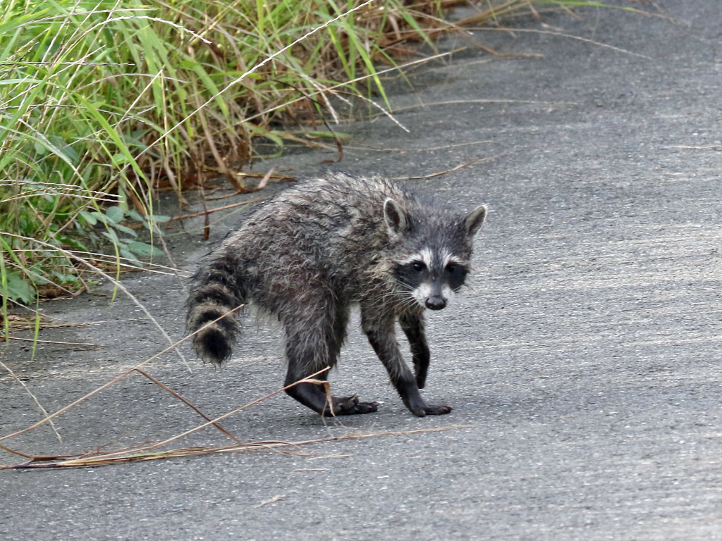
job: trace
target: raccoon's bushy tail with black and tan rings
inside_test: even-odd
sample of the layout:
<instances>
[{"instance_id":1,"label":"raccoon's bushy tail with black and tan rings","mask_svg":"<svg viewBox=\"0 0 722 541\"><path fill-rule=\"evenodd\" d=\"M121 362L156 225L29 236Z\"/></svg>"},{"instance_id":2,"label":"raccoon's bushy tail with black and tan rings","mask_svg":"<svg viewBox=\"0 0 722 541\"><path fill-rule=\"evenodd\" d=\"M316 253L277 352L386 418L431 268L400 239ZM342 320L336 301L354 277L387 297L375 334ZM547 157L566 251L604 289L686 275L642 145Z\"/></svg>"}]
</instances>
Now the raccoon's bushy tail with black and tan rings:
<instances>
[{"instance_id":1,"label":"raccoon's bushy tail with black and tan rings","mask_svg":"<svg viewBox=\"0 0 722 541\"><path fill-rule=\"evenodd\" d=\"M238 264L229 255L221 255L208 267L201 268L193 282L188 297L186 334L198 331L193 335L196 353L203 361L221 366L230 358L231 344L240 333L238 314L230 313L245 302ZM212 323L202 328L209 322Z\"/></svg>"}]
</instances>

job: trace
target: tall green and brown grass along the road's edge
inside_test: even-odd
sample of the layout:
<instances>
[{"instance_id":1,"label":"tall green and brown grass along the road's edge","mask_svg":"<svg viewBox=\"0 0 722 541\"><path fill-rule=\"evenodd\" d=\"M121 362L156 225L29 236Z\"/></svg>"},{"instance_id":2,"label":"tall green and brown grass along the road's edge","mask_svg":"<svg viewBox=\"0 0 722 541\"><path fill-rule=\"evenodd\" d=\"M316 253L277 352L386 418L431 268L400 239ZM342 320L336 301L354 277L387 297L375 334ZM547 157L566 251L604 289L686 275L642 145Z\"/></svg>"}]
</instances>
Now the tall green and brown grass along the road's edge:
<instances>
[{"instance_id":1,"label":"tall green and brown grass along the road's edge","mask_svg":"<svg viewBox=\"0 0 722 541\"><path fill-rule=\"evenodd\" d=\"M539 1L549 4L549 1ZM556 1L575 6L577 1ZM454 0L6 0L0 6L0 296L77 291L160 253L158 190L235 175L259 138L386 102L376 74ZM588 4L588 3L587 3ZM593 2L592 4L597 4ZM526 0L490 1L487 20ZM481 17L479 20L483 19ZM340 84L340 86L339 86ZM333 89L332 89L333 88ZM307 97L313 97L310 102ZM144 233L139 235L139 232Z\"/></svg>"}]
</instances>

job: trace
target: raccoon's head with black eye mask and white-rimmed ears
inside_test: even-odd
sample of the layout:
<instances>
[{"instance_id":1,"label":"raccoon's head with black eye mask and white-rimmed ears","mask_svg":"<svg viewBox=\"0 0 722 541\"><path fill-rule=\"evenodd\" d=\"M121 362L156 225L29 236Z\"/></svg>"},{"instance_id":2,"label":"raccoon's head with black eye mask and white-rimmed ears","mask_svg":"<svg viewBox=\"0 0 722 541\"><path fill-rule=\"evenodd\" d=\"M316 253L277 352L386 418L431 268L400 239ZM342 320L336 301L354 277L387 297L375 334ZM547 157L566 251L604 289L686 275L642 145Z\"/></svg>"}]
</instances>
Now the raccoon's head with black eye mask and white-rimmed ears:
<instances>
[{"instance_id":1,"label":"raccoon's head with black eye mask and white-rimmed ears","mask_svg":"<svg viewBox=\"0 0 722 541\"><path fill-rule=\"evenodd\" d=\"M404 291L420 306L446 307L464 285L470 271L471 242L484 223L487 208L469 214L448 211L409 211L388 198L383 218L388 233L400 240L403 255L393 260L393 273Z\"/></svg>"}]
</instances>

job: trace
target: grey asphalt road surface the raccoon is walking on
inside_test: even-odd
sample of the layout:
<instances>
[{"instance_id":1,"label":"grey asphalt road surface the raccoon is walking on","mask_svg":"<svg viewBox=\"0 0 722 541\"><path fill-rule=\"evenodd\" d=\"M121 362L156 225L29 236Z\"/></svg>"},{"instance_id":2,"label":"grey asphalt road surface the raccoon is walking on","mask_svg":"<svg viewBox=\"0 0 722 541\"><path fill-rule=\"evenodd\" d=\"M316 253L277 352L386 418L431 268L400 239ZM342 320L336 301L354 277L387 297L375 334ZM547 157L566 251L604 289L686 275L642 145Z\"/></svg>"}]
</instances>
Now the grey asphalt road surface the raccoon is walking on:
<instances>
[{"instance_id":1,"label":"grey asphalt road surface the raccoon is walking on","mask_svg":"<svg viewBox=\"0 0 722 541\"><path fill-rule=\"evenodd\" d=\"M378 413L324 423L278 395L224 426L244 441L448 430L295 454L4 471L0 539L722 539L722 6L656 3L668 17L586 9L516 19L513 33L476 32L502 53L543 56L455 53L414 69L412 91L389 82L409 133L385 117L340 128L352 139L334 167L352 172L422 176L486 159L409 181L439 201L490 207L474 289L429 318L424 394L454 410L413 417L356 325L331 382L336 394L378 400ZM313 173L333 157L304 151L256 169ZM213 237L236 218L214 223ZM199 223L186 226L168 242L192 271L207 245ZM175 278L123 283L178 337L184 295ZM0 360L48 410L166 345L126 299L86 294L43 309L58 321L105 322L43 330L44 340L97 347L46 343L32 363L25 344L3 346ZM249 325L220 371L187 349L192 373L170 354L146 368L222 415L280 387L278 335ZM38 418L0 375L0 434ZM63 444L46 426L1 443L78 452L198 423L133 376L58 418ZM206 430L175 443L226 441Z\"/></svg>"}]
</instances>

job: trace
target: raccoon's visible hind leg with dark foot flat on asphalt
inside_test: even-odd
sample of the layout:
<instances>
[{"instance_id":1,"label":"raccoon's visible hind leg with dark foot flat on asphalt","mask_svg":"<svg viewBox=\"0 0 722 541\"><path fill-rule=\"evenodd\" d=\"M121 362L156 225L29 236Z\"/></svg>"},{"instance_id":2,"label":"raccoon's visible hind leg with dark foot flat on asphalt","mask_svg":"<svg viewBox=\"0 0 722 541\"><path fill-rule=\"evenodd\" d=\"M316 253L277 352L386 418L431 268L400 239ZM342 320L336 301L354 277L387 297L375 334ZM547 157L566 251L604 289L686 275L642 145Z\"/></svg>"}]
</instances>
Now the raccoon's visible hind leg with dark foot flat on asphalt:
<instances>
[{"instance_id":1,"label":"raccoon's visible hind leg with dark foot flat on asphalt","mask_svg":"<svg viewBox=\"0 0 722 541\"><path fill-rule=\"evenodd\" d=\"M288 358L286 385L336 364L346 337L348 308L344 305L334 306L330 317L328 307L321 305L316 308L306 307L303 318L285 322ZM326 381L328 374L328 371L323 372L316 376L316 379ZM355 396L331 396L329 403L323 387L313 383L300 383L290 387L286 392L321 415L355 415L371 413L378 409L378 403L359 402Z\"/></svg>"}]
</instances>

